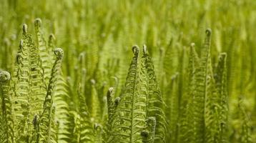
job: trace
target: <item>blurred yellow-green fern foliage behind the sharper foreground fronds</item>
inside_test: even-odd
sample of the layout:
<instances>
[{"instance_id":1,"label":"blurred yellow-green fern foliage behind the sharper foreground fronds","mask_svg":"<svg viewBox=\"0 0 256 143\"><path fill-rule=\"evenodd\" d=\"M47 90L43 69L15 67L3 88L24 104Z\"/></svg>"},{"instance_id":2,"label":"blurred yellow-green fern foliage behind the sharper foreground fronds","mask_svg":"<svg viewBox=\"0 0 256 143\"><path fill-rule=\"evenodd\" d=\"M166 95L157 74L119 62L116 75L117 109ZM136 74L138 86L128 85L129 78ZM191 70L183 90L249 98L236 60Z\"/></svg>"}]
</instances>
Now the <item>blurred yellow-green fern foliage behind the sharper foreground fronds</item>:
<instances>
[{"instance_id":1,"label":"blurred yellow-green fern foliage behind the sharper foreground fronds","mask_svg":"<svg viewBox=\"0 0 256 143\"><path fill-rule=\"evenodd\" d=\"M12 70L22 24L28 24L28 31L34 34L32 25L38 17L46 41L54 34L56 45L64 49L62 71L72 81L71 87L76 86L82 65L86 69L85 96L90 99L96 91L99 104L108 87L116 87L116 96L122 91L134 44L147 45L164 95L174 91L170 84L177 73L179 86L173 88L182 94L189 45L195 42L200 52L205 29L211 28L213 67L218 54L227 52L231 128L240 127L237 106L243 99L255 136L256 1L1 0L1 69ZM236 139L238 133L230 134Z\"/></svg>"}]
</instances>

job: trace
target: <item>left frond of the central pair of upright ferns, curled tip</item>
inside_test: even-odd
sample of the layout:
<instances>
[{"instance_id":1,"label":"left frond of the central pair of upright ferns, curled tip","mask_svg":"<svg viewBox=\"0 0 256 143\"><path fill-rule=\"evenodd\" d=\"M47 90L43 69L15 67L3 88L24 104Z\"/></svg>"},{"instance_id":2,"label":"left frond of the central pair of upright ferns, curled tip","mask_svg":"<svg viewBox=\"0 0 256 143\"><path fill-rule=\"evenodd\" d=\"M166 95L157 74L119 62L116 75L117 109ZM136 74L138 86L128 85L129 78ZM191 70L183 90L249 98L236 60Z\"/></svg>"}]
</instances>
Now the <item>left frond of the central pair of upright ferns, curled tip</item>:
<instances>
[{"instance_id":1,"label":"left frond of the central pair of upright ferns, curled tip","mask_svg":"<svg viewBox=\"0 0 256 143\"><path fill-rule=\"evenodd\" d=\"M134 57L129 67L127 82L114 115L112 137L108 142L142 142L141 132L146 127L146 94L139 77L139 47L133 46ZM144 89L145 90L145 89Z\"/></svg>"}]
</instances>

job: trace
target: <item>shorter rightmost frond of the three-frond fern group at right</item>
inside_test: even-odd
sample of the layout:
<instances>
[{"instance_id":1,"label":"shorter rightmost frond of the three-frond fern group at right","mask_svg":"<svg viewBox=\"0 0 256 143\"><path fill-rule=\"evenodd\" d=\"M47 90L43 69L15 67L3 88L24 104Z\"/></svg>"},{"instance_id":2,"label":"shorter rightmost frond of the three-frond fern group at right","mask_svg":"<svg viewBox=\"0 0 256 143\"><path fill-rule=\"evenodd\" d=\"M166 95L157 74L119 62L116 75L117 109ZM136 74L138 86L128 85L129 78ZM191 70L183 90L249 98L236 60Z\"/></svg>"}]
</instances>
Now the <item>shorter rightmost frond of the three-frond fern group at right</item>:
<instances>
[{"instance_id":1,"label":"shorter rightmost frond of the three-frond fern group at right","mask_svg":"<svg viewBox=\"0 0 256 143\"><path fill-rule=\"evenodd\" d=\"M215 74L215 87L207 97L205 114L206 142L227 142L226 54L220 54Z\"/></svg>"}]
</instances>

